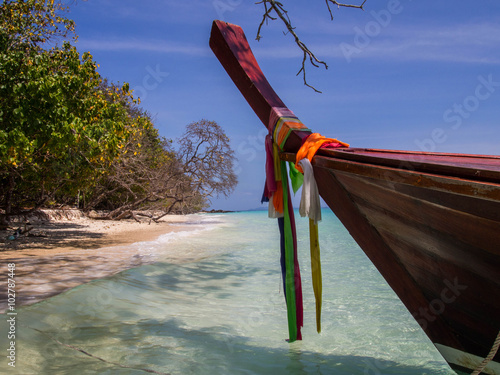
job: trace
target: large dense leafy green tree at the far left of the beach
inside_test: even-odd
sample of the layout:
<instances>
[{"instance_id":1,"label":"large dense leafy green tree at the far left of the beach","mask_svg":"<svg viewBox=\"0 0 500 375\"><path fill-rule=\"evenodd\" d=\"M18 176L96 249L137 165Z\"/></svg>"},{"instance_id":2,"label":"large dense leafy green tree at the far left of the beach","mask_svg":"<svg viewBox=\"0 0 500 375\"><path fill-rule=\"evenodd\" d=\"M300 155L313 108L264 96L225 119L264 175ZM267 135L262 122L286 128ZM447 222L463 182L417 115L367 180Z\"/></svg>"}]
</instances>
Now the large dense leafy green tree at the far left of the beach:
<instances>
[{"instance_id":1,"label":"large dense leafy green tree at the far left of the beach","mask_svg":"<svg viewBox=\"0 0 500 375\"><path fill-rule=\"evenodd\" d=\"M46 3L46 4L45 4ZM43 6L42 6L43 5ZM53 1L7 1L0 45L0 221L73 194L102 171L126 139L122 97L100 89L90 53L64 43L72 22ZM84 180L85 178L85 180Z\"/></svg>"}]
</instances>

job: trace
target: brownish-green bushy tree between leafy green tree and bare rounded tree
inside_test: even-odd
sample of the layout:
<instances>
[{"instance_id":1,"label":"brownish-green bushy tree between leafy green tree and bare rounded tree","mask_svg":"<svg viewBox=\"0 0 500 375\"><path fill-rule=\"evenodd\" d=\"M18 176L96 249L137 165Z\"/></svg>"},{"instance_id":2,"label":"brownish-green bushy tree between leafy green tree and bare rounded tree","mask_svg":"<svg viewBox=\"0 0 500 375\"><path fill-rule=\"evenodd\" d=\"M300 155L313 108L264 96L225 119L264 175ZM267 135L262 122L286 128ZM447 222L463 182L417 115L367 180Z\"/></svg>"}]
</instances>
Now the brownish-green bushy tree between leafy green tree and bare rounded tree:
<instances>
[{"instance_id":1,"label":"brownish-green bushy tree between leafy green tree and bare rounded tree","mask_svg":"<svg viewBox=\"0 0 500 375\"><path fill-rule=\"evenodd\" d=\"M127 105L127 111L127 139L120 144L117 158L85 193L83 208L107 210L106 219L128 218L132 210L152 206L170 212L167 201L175 198L172 180L182 175L172 142L159 136L149 114L135 105Z\"/></svg>"}]
</instances>

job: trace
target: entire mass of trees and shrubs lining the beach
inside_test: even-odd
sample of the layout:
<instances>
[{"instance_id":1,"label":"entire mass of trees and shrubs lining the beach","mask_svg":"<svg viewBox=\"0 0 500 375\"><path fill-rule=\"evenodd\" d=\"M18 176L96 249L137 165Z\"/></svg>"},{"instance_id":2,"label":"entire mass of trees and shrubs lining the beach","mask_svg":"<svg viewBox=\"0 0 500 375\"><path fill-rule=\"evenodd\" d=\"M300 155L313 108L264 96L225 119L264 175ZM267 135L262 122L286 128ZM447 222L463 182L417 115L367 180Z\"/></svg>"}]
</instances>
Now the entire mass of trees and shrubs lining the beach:
<instances>
[{"instance_id":1,"label":"entire mass of trees and shrubs lining the beach","mask_svg":"<svg viewBox=\"0 0 500 375\"><path fill-rule=\"evenodd\" d=\"M169 212L232 191L234 155L216 123L188 125L175 151L129 85L103 80L90 53L68 42L47 49L74 28L60 2L1 4L0 219L48 202L106 208L113 217Z\"/></svg>"}]
</instances>

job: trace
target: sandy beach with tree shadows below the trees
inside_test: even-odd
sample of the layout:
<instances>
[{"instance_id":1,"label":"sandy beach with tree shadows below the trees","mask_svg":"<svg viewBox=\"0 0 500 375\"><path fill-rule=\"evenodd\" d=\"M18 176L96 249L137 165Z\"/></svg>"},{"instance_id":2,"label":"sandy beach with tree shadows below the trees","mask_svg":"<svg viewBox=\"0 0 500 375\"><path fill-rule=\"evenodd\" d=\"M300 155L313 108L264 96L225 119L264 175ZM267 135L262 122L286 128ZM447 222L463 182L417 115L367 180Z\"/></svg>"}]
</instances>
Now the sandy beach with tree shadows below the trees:
<instances>
[{"instance_id":1,"label":"sandy beach with tree shadows below the trees","mask_svg":"<svg viewBox=\"0 0 500 375\"><path fill-rule=\"evenodd\" d=\"M168 215L160 222L96 220L64 215L32 223L29 233L9 240L0 231L0 313L8 307L8 265L15 264L15 306L32 304L94 279L153 261L127 248L136 242L194 229L192 216ZM183 225L186 224L186 225Z\"/></svg>"}]
</instances>

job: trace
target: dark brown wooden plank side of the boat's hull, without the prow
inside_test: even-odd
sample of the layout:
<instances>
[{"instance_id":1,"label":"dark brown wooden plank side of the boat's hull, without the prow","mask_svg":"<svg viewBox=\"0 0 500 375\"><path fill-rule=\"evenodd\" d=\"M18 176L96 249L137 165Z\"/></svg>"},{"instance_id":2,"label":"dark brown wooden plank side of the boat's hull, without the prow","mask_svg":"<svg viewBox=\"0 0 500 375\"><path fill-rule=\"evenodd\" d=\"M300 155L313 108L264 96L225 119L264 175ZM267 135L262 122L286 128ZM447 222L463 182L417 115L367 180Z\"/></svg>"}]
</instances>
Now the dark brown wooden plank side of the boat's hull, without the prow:
<instances>
[{"instance_id":1,"label":"dark brown wooden plank side of the boat's hull, without the prow","mask_svg":"<svg viewBox=\"0 0 500 375\"><path fill-rule=\"evenodd\" d=\"M500 185L328 155L313 166L320 195L445 359L477 368L500 327ZM500 374L499 360L484 373Z\"/></svg>"}]
</instances>

